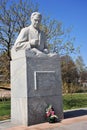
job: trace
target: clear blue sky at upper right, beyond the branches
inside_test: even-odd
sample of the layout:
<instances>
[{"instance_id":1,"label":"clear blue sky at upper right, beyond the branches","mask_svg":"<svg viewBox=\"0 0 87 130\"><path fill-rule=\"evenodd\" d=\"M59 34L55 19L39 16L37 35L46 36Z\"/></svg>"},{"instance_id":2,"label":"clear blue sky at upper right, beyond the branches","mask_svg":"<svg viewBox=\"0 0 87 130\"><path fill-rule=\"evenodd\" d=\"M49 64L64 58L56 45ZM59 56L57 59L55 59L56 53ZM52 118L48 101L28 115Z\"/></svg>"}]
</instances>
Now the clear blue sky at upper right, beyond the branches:
<instances>
[{"instance_id":1,"label":"clear blue sky at upper right, beyond the branches","mask_svg":"<svg viewBox=\"0 0 87 130\"><path fill-rule=\"evenodd\" d=\"M39 12L57 19L65 28L73 26L74 45L81 46L80 55L87 66L87 0L34 0Z\"/></svg>"}]
</instances>

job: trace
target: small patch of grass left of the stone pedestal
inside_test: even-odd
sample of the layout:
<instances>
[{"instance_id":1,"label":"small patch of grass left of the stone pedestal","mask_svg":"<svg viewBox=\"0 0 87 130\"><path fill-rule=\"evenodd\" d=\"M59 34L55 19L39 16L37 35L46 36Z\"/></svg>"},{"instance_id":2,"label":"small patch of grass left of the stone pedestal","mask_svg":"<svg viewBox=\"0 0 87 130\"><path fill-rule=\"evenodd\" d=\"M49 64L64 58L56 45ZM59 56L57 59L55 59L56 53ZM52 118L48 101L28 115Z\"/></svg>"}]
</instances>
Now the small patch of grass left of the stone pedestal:
<instances>
[{"instance_id":1,"label":"small patch of grass left of the stone pedestal","mask_svg":"<svg viewBox=\"0 0 87 130\"><path fill-rule=\"evenodd\" d=\"M0 121L10 118L10 100L0 101Z\"/></svg>"}]
</instances>

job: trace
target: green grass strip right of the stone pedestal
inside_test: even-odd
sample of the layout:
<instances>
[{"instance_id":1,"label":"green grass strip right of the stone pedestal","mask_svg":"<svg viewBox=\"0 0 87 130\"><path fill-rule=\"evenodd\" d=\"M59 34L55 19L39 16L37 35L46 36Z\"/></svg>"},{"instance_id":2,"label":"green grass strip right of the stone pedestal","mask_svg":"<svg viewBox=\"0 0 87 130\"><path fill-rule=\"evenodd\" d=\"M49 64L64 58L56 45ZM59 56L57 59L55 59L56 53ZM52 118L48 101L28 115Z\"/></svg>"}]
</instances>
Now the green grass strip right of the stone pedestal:
<instances>
[{"instance_id":1,"label":"green grass strip right of the stone pedestal","mask_svg":"<svg viewBox=\"0 0 87 130\"><path fill-rule=\"evenodd\" d=\"M77 109L87 107L87 93L63 95L63 109Z\"/></svg>"}]
</instances>

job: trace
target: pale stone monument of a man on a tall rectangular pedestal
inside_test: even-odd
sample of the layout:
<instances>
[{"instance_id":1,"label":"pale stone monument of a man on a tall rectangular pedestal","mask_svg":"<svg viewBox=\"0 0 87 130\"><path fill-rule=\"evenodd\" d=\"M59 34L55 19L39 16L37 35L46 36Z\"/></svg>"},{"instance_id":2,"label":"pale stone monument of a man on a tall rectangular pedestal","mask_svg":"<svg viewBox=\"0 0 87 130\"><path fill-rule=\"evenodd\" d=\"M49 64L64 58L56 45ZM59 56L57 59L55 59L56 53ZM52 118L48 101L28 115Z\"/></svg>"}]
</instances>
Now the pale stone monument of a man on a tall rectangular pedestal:
<instances>
[{"instance_id":1,"label":"pale stone monument of a man on a tall rectangular pedestal","mask_svg":"<svg viewBox=\"0 0 87 130\"><path fill-rule=\"evenodd\" d=\"M11 50L11 121L19 125L45 122L49 104L63 118L60 59L48 51L41 19L32 13L31 25L21 30Z\"/></svg>"}]
</instances>

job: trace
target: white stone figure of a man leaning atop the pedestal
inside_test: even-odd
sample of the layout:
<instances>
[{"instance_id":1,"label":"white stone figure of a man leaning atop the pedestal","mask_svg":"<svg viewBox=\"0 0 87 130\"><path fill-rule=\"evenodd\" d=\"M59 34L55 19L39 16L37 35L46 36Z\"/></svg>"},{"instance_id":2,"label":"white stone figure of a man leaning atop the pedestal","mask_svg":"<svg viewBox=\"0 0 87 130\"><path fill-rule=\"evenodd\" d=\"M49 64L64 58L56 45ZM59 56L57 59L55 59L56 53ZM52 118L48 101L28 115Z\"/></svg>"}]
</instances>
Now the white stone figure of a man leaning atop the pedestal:
<instances>
[{"instance_id":1,"label":"white stone figure of a man leaning atop the pedestal","mask_svg":"<svg viewBox=\"0 0 87 130\"><path fill-rule=\"evenodd\" d=\"M31 15L31 25L21 30L13 48L15 51L30 50L34 55L48 54L45 34L40 30L42 15L34 12Z\"/></svg>"}]
</instances>

